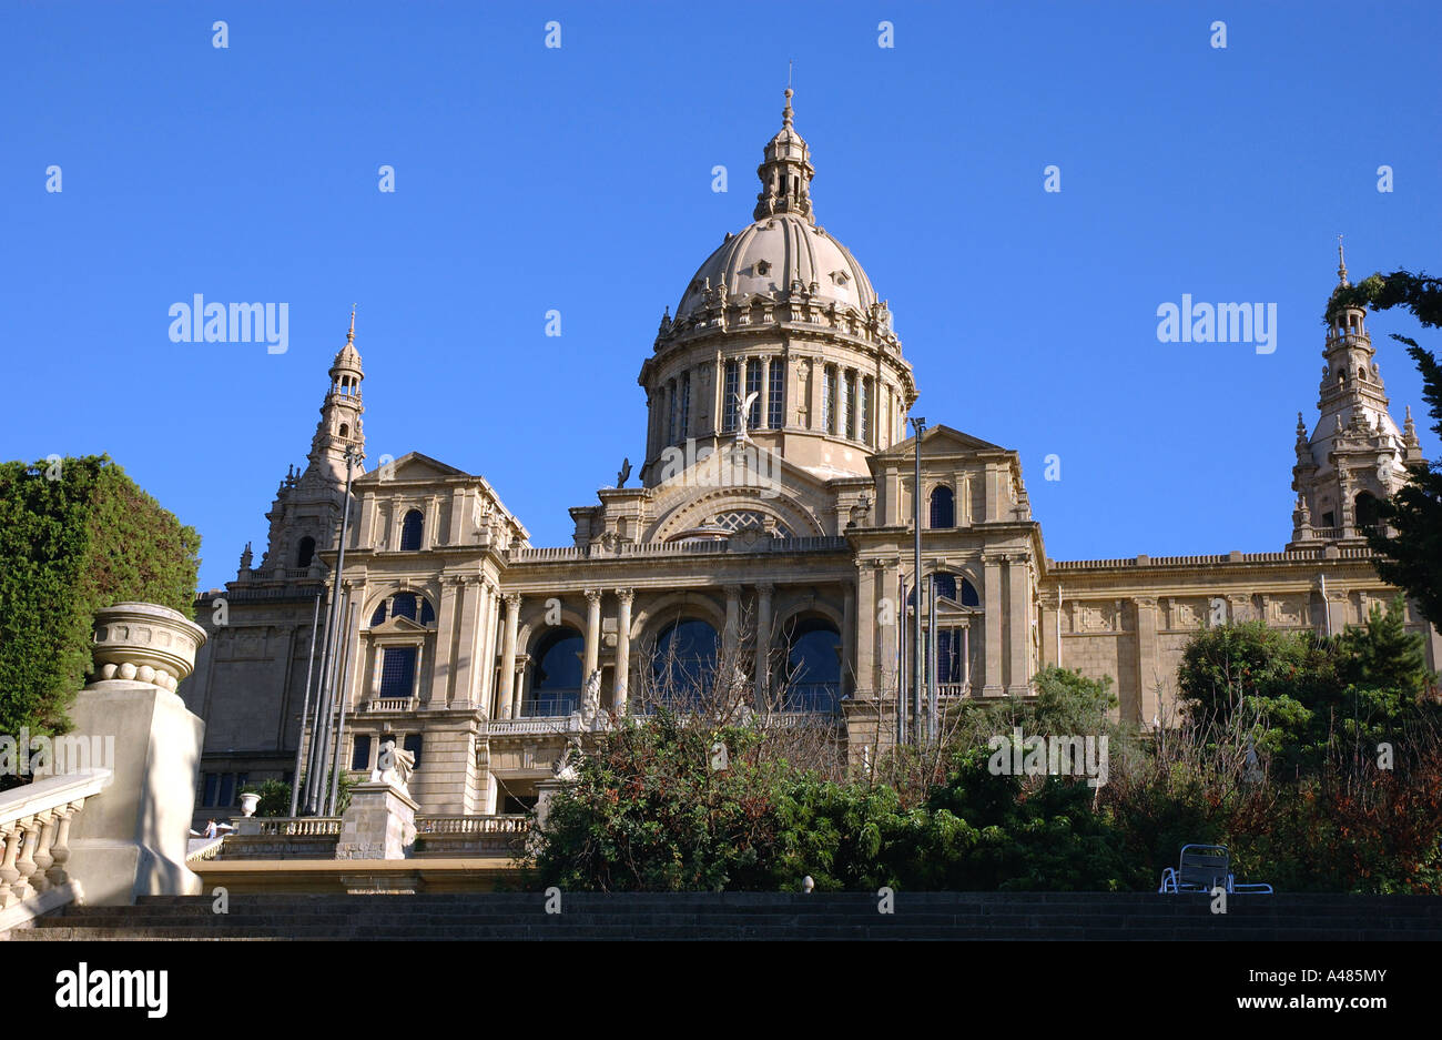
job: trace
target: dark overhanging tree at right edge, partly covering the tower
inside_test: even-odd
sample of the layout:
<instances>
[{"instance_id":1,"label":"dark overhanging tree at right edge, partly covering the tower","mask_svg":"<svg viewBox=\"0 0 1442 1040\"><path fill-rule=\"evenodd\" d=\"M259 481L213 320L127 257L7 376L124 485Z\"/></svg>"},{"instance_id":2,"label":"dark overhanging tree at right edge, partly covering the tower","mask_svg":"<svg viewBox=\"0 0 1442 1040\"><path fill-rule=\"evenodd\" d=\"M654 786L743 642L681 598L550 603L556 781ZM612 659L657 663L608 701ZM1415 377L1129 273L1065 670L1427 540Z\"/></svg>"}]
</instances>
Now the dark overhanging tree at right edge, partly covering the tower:
<instances>
[{"instance_id":1,"label":"dark overhanging tree at right edge, partly covering the tower","mask_svg":"<svg viewBox=\"0 0 1442 1040\"><path fill-rule=\"evenodd\" d=\"M1409 310L1429 329L1442 326L1442 278L1393 271L1373 274L1355 286L1338 286L1327 304L1325 320L1343 307ZM1416 340L1393 333L1422 372L1422 397L1432 415L1433 433L1442 437L1442 363ZM1422 614L1442 626L1442 463L1422 460L1407 466L1412 480L1384 502L1377 516L1396 534L1370 532L1367 541L1380 554L1377 573L1417 601Z\"/></svg>"}]
</instances>

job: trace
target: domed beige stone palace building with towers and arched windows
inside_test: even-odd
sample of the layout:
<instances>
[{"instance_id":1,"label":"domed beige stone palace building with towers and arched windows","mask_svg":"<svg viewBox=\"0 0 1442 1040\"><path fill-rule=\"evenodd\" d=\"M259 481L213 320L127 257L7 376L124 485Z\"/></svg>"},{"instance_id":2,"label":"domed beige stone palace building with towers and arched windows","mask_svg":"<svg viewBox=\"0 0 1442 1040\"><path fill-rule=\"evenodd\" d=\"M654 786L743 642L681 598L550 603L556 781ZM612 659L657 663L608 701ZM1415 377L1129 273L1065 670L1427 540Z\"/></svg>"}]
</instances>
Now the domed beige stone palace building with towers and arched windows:
<instances>
[{"instance_id":1,"label":"domed beige stone palace building with towers and arched windows","mask_svg":"<svg viewBox=\"0 0 1442 1040\"><path fill-rule=\"evenodd\" d=\"M435 815L521 811L570 739L696 685L744 689L859 760L895 740L917 495L943 701L1027 695L1060 664L1112 677L1123 718L1165 726L1203 625L1340 632L1394 596L1363 529L1420 447L1410 414L1402 431L1389 414L1360 310L1325 336L1309 434L1298 417L1283 551L1050 560L1017 453L940 424L921 436L919 488L914 374L887 301L816 224L790 97L751 224L701 264L642 363L639 486L622 473L572 508L571 545L532 547L485 477L412 453L355 470L329 601L346 456L365 450L352 316L260 565L247 547L236 580L198 597L209 642L182 694L206 720L199 818L247 780L291 775L327 659L342 760L369 770L397 739ZM1436 668L1438 632L1412 606L1409 625Z\"/></svg>"}]
</instances>

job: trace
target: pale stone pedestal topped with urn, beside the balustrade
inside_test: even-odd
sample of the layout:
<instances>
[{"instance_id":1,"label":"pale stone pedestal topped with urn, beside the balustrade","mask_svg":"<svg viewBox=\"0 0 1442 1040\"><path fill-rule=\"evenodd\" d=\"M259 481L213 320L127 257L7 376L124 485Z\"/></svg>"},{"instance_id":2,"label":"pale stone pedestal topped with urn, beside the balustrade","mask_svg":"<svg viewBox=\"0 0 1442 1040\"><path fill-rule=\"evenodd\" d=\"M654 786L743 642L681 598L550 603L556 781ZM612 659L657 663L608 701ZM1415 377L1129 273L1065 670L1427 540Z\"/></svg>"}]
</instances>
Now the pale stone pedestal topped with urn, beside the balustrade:
<instances>
[{"instance_id":1,"label":"pale stone pedestal topped with urn, beside the balustrade","mask_svg":"<svg viewBox=\"0 0 1442 1040\"><path fill-rule=\"evenodd\" d=\"M95 677L75 698L75 734L114 737L115 782L85 803L69 832L66 873L85 902L202 890L185 863L205 723L176 687L195 668L205 629L154 603L95 614ZM9 854L6 857L9 860Z\"/></svg>"}]
</instances>

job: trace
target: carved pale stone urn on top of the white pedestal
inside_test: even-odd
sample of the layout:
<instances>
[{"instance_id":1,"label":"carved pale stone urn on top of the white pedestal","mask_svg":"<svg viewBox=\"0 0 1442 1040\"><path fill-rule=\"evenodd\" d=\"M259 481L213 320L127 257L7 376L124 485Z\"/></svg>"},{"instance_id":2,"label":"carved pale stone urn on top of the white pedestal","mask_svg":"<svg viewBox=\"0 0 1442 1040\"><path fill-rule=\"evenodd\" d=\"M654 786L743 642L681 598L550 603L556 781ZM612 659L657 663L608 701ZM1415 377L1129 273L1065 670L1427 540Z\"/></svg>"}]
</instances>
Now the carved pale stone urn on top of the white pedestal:
<instances>
[{"instance_id":1,"label":"carved pale stone urn on top of the white pedestal","mask_svg":"<svg viewBox=\"0 0 1442 1040\"><path fill-rule=\"evenodd\" d=\"M157 603L117 603L95 612L91 653L97 682L146 682L172 694L195 671L205 629Z\"/></svg>"}]
</instances>

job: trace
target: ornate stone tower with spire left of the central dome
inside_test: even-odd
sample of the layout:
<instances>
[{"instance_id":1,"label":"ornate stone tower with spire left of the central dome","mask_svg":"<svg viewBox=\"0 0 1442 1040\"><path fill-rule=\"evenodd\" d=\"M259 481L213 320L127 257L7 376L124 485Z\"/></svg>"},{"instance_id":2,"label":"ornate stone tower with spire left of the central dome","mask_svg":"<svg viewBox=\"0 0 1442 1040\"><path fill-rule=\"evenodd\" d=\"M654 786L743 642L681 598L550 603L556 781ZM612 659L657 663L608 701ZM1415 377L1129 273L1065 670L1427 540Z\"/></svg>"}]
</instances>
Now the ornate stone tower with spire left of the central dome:
<instances>
[{"instance_id":1,"label":"ornate stone tower with spire left of the central dome","mask_svg":"<svg viewBox=\"0 0 1442 1040\"><path fill-rule=\"evenodd\" d=\"M286 583L322 574L317 550L329 550L340 534L340 511L346 488L346 451L365 459L360 414L360 382L365 371L356 351L356 316L350 312L346 343L330 365L330 387L320 405L320 421L310 440L306 469L287 472L265 518L270 537L261 565L249 571L242 558L239 576L258 583ZM352 476L360 476L356 466ZM248 574L249 571L249 574Z\"/></svg>"}]
</instances>

